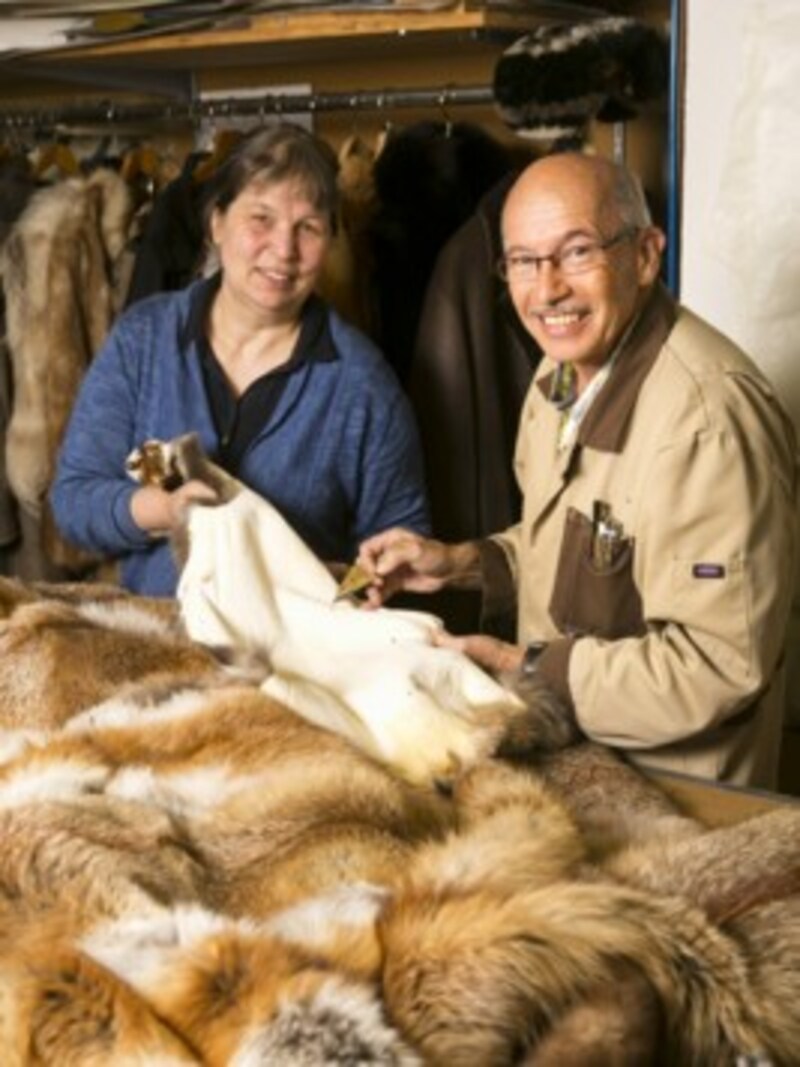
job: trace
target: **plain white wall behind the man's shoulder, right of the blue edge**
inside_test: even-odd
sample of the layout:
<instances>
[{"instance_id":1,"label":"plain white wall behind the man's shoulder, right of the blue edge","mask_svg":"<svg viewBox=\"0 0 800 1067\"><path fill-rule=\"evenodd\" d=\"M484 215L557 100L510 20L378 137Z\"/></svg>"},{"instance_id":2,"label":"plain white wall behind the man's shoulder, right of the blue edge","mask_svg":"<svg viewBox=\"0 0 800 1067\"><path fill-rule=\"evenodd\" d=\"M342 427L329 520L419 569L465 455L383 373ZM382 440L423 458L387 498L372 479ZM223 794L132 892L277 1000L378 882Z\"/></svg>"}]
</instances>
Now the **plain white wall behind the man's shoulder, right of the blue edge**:
<instances>
[{"instance_id":1,"label":"plain white wall behind the man's shoulder, right of the blue edge","mask_svg":"<svg viewBox=\"0 0 800 1067\"><path fill-rule=\"evenodd\" d=\"M800 0L687 0L686 43L681 299L762 367L800 439ZM789 642L800 723L800 580Z\"/></svg>"}]
</instances>

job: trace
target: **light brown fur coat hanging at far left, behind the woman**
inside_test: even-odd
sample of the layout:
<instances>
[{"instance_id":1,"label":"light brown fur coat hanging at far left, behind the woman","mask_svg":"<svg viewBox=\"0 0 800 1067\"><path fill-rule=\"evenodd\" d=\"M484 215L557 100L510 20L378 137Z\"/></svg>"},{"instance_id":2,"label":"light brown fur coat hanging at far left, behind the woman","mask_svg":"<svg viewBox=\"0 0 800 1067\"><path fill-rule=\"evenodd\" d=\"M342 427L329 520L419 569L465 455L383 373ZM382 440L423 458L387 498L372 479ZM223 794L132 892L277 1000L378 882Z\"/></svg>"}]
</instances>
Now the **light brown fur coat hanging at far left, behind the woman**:
<instances>
[{"instance_id":1,"label":"light brown fur coat hanging at far left, behind the woman","mask_svg":"<svg viewBox=\"0 0 800 1067\"><path fill-rule=\"evenodd\" d=\"M90 557L59 537L46 496L81 379L117 307L113 268L131 213L114 172L69 178L31 198L0 258L14 391L9 480L21 511L42 523L45 556L75 573Z\"/></svg>"}]
</instances>

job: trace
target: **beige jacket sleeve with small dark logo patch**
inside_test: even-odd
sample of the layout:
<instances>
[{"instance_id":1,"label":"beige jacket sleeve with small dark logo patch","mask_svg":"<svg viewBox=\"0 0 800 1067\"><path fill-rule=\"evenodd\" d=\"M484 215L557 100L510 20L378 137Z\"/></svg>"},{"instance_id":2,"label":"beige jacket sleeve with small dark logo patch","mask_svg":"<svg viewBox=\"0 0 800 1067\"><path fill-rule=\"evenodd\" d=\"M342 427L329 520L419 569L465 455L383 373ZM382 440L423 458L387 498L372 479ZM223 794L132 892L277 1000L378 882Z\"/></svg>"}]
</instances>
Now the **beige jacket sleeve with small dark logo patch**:
<instances>
[{"instance_id":1,"label":"beige jacket sleeve with small dark logo patch","mask_svg":"<svg viewBox=\"0 0 800 1067\"><path fill-rule=\"evenodd\" d=\"M641 501L635 578L646 633L580 637L569 665L578 721L629 749L747 713L784 652L797 551L797 459L769 391L726 375L705 429L662 446ZM621 695L624 694L624 699Z\"/></svg>"}]
</instances>

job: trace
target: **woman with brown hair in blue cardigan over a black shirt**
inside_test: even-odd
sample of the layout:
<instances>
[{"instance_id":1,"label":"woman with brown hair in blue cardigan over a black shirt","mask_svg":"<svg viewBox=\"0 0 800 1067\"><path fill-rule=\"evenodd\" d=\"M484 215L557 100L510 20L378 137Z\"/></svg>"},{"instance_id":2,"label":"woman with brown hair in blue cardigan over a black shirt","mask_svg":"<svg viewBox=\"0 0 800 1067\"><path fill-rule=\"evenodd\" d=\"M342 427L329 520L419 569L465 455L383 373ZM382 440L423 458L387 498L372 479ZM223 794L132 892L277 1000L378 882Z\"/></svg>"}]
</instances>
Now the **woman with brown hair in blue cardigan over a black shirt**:
<instances>
[{"instance_id":1,"label":"woman with brown hair in blue cardigan over a black shirt","mask_svg":"<svg viewBox=\"0 0 800 1067\"><path fill-rule=\"evenodd\" d=\"M174 593L165 535L209 493L134 485L125 460L148 437L197 431L329 561L351 559L389 526L427 529L404 395L374 346L314 291L336 208L324 143L289 125L251 134L208 201L219 271L134 304L92 364L51 504L66 538L121 557L134 592Z\"/></svg>"}]
</instances>

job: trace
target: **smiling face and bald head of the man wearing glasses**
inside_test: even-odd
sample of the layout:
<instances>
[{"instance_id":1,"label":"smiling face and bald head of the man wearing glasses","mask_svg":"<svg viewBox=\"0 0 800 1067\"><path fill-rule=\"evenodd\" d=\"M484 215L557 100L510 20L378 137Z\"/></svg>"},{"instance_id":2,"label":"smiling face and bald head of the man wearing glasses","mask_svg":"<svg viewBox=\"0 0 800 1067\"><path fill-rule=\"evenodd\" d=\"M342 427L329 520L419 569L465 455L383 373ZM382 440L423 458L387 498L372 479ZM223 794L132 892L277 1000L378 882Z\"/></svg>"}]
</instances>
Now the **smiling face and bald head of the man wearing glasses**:
<instances>
[{"instance_id":1,"label":"smiling face and bald head of the man wearing glasses","mask_svg":"<svg viewBox=\"0 0 800 1067\"><path fill-rule=\"evenodd\" d=\"M614 244L596 251L596 242L618 235ZM550 359L575 366L581 388L638 313L658 273L663 235L625 225L602 165L554 156L535 163L512 189L502 237L507 262L575 246L593 250L592 266L579 273L545 261L529 276L509 274L511 299L527 330Z\"/></svg>"}]
</instances>

